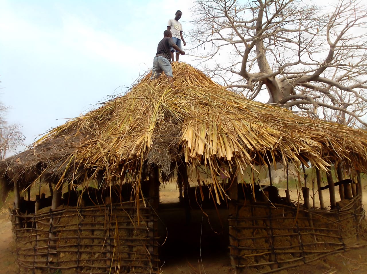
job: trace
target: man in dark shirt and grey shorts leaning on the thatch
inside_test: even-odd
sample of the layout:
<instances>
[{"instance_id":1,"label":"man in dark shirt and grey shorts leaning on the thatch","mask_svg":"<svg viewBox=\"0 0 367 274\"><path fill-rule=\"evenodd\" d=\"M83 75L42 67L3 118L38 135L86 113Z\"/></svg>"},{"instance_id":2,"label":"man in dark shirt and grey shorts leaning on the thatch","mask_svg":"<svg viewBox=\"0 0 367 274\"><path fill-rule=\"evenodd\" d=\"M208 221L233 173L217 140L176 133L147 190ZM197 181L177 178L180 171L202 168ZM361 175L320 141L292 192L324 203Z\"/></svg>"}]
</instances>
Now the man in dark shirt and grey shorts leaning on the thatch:
<instances>
[{"instance_id":1,"label":"man in dark shirt and grey shorts leaning on the thatch","mask_svg":"<svg viewBox=\"0 0 367 274\"><path fill-rule=\"evenodd\" d=\"M158 43L157 54L153 60L152 77L150 79L158 78L162 71L167 75L168 80L173 86L173 74L171 66L171 48L185 55L172 40L172 33L169 30L165 30L163 33L163 39Z\"/></svg>"}]
</instances>

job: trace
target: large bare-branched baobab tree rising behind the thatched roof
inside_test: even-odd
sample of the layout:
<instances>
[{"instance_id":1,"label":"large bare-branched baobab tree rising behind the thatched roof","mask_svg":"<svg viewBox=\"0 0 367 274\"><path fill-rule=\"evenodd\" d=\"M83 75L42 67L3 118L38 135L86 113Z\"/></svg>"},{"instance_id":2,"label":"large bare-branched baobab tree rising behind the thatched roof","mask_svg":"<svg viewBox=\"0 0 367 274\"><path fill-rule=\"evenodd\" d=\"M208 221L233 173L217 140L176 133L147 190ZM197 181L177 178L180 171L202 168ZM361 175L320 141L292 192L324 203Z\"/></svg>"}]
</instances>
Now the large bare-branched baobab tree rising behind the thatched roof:
<instances>
[{"instance_id":1,"label":"large bare-branched baobab tree rising behind the thatched roof","mask_svg":"<svg viewBox=\"0 0 367 274\"><path fill-rule=\"evenodd\" d=\"M309 3L196 0L194 49L212 57L210 76L251 100L267 92L269 104L366 125L366 4Z\"/></svg>"}]
</instances>

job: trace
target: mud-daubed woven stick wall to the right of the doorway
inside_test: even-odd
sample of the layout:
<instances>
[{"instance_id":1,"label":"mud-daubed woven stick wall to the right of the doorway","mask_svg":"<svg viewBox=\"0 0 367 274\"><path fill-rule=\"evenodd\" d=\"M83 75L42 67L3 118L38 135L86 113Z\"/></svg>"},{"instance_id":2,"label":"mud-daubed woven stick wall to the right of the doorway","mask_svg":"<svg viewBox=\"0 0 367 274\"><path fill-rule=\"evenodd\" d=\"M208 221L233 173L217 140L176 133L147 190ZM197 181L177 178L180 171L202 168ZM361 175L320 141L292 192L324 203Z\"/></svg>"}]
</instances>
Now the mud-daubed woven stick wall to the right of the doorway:
<instances>
[{"instance_id":1,"label":"mud-daubed woven stick wall to the right of the doorway","mask_svg":"<svg viewBox=\"0 0 367 274\"><path fill-rule=\"evenodd\" d=\"M352 247L364 210L359 197L344 201L331 211L239 201L236 215L229 217L237 273L273 273Z\"/></svg>"}]
</instances>

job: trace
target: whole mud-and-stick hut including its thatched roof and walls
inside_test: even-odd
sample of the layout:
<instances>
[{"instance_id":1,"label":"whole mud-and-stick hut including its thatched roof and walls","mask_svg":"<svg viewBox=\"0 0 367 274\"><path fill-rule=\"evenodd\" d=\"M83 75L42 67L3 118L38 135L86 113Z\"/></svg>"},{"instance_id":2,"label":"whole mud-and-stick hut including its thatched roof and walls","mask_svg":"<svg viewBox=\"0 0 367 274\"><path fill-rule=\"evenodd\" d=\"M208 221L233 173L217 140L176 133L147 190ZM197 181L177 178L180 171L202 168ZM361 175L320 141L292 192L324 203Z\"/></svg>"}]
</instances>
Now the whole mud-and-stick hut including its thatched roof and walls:
<instances>
[{"instance_id":1,"label":"whole mud-and-stick hut including its thatched roof and walls","mask_svg":"<svg viewBox=\"0 0 367 274\"><path fill-rule=\"evenodd\" d=\"M188 220L190 178L197 181L196 202L226 207L237 273L286 269L355 242L364 218L364 132L247 100L185 63L173 70L174 88L148 74L127 94L0 163L3 198L15 192L11 216L22 273L158 273L159 185L173 177ZM290 163L317 170L320 208L310 206L306 177L302 204L274 195L271 178L269 187L258 184L259 167ZM22 198L34 184L49 184L50 198Z\"/></svg>"}]
</instances>

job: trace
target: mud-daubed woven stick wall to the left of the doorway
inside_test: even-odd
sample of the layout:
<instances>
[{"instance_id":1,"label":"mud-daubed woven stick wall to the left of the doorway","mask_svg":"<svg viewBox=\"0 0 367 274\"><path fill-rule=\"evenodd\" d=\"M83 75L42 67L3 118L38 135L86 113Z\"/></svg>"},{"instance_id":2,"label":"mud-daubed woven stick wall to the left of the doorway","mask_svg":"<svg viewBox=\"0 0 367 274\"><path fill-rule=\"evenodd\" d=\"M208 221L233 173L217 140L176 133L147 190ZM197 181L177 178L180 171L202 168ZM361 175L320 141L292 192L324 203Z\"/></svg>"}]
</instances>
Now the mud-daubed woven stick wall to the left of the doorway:
<instances>
[{"instance_id":1,"label":"mud-daubed woven stick wall to the left of the doorway","mask_svg":"<svg viewBox=\"0 0 367 274\"><path fill-rule=\"evenodd\" d=\"M157 219L135 202L19 215L12 211L20 273L157 273ZM56 272L59 270L59 272Z\"/></svg>"}]
</instances>

